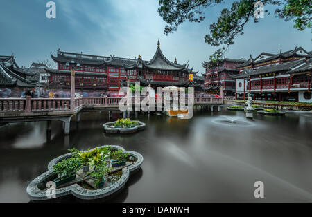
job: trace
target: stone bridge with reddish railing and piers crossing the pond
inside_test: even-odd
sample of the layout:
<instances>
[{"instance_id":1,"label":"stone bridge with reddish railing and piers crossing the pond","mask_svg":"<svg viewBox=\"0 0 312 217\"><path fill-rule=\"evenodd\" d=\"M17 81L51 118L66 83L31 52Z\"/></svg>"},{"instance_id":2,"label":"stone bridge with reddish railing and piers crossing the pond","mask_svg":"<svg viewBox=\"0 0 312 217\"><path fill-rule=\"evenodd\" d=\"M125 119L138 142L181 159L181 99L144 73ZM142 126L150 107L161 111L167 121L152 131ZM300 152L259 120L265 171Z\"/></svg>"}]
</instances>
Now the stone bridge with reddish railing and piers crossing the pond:
<instances>
[{"instance_id":1,"label":"stone bridge with reddish railing and piers crossing the pond","mask_svg":"<svg viewBox=\"0 0 312 217\"><path fill-rule=\"evenodd\" d=\"M132 99L133 104L140 104L141 100ZM70 98L0 98L0 123L35 122L61 120L64 122L64 133L69 134L71 117L87 111L119 111L119 102L123 97L76 97ZM185 99L187 102L187 99ZM164 97L157 97L155 105L164 105ZM223 98L194 97L194 105L220 105ZM49 126L48 126L49 129Z\"/></svg>"}]
</instances>

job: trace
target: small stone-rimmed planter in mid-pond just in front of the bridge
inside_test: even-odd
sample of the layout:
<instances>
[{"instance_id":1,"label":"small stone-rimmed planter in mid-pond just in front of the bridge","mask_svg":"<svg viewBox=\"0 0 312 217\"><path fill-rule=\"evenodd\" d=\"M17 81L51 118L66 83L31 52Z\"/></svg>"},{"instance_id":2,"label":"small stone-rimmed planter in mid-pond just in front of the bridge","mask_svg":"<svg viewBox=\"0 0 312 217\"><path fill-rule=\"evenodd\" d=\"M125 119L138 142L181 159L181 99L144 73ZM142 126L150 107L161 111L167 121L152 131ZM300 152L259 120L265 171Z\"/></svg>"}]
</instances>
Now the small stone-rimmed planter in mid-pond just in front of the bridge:
<instances>
[{"instance_id":1,"label":"small stone-rimmed planter in mid-pond just in front of the bridge","mask_svg":"<svg viewBox=\"0 0 312 217\"><path fill-rule=\"evenodd\" d=\"M146 124L140 121L131 121L130 119L119 119L116 122L108 122L103 124L105 133L135 133L137 131L143 131Z\"/></svg>"}]
</instances>

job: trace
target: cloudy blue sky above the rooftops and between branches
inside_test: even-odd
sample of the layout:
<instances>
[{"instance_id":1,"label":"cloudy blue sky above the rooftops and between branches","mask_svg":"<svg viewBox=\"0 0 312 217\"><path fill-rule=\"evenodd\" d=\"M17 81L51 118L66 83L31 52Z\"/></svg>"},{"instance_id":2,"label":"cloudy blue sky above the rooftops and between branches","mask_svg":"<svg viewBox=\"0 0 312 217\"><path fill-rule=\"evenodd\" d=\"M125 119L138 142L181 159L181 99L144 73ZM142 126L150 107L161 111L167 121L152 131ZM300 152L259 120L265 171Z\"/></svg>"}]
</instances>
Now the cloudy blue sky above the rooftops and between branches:
<instances>
[{"instance_id":1,"label":"cloudy blue sky above the rooftops and between branches","mask_svg":"<svg viewBox=\"0 0 312 217\"><path fill-rule=\"evenodd\" d=\"M19 66L51 60L58 48L62 51L90 55L153 58L157 40L167 59L179 64L189 61L195 71L204 73L202 62L208 61L216 47L205 44L209 24L229 3L205 11L201 23L183 23L173 34L164 35L166 23L159 16L157 0L55 0L56 18L46 18L48 0L1 0L0 55L14 53ZM293 28L293 22L271 15L259 23L245 26L245 34L235 40L225 57L257 57L261 52L279 53L302 46L312 50L311 30Z\"/></svg>"}]
</instances>

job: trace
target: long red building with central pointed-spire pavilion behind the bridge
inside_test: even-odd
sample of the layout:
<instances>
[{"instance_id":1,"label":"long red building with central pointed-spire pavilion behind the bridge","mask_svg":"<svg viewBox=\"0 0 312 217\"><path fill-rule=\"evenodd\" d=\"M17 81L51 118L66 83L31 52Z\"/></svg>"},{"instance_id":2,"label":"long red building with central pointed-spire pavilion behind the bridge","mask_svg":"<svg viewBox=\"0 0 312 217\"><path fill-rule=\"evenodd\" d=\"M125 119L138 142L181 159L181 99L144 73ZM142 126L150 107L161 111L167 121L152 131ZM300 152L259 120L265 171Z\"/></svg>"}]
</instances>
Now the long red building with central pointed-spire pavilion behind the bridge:
<instances>
[{"instance_id":1,"label":"long red building with central pointed-spire pavilion behind the bridge","mask_svg":"<svg viewBox=\"0 0 312 217\"><path fill-rule=\"evenodd\" d=\"M145 61L139 55L138 59L85 55L83 53L68 53L58 50L57 56L51 54L58 64L55 70L46 70L50 77L50 87L60 89L70 88L71 68L76 72L76 90L83 91L119 91L121 86L130 82L141 82L142 86L187 86L189 73L193 68L188 64L177 64L164 57L158 41L156 53L150 61Z\"/></svg>"}]
</instances>

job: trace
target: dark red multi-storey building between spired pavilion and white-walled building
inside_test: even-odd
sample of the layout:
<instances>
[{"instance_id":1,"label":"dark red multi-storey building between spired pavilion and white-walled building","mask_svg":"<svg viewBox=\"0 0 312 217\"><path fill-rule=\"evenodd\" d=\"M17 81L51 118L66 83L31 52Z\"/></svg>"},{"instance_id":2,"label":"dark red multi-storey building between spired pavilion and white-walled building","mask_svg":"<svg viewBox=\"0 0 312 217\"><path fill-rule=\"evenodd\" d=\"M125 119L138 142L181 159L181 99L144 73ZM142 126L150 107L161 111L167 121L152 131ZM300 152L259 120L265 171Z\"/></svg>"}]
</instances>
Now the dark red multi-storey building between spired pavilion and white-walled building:
<instances>
[{"instance_id":1,"label":"dark red multi-storey building between spired pavilion and white-walled building","mask_svg":"<svg viewBox=\"0 0 312 217\"><path fill-rule=\"evenodd\" d=\"M222 86L225 96L234 96L235 79L233 75L239 74L238 64L243 64L245 59L222 59L217 62L204 62L205 68L204 90L206 93L220 93Z\"/></svg>"}]
</instances>

